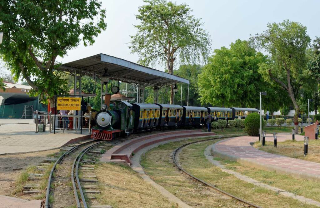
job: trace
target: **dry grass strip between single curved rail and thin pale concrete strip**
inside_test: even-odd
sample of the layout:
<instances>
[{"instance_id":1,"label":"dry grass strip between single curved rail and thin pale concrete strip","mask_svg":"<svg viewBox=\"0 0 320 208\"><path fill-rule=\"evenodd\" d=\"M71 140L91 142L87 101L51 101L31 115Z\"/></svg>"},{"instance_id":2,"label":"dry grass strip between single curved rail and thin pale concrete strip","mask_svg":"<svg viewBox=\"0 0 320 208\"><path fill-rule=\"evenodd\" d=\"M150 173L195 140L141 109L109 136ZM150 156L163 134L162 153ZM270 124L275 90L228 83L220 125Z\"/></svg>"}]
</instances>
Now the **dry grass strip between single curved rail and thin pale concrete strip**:
<instances>
[{"instance_id":1,"label":"dry grass strip between single curved rail and thin pale concrete strip","mask_svg":"<svg viewBox=\"0 0 320 208\"><path fill-rule=\"evenodd\" d=\"M222 172L204 156L204 149L209 144L212 142L203 142L184 148L180 153L182 167L196 177L215 184L217 188L262 207L316 207L300 203L290 197L279 195L274 191L244 182L231 174Z\"/></svg>"}]
</instances>

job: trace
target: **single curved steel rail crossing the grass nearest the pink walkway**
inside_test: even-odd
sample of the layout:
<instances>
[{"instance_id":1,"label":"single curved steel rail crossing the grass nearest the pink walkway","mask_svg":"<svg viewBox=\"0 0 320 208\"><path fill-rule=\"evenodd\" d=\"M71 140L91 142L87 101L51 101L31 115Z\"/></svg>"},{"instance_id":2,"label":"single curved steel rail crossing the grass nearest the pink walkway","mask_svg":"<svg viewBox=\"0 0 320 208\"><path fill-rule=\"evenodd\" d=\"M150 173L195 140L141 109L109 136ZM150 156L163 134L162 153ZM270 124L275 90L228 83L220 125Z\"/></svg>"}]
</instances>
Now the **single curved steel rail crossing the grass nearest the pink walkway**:
<instances>
[{"instance_id":1,"label":"single curved steel rail crossing the grass nearest the pink walkway","mask_svg":"<svg viewBox=\"0 0 320 208\"><path fill-rule=\"evenodd\" d=\"M234 137L234 136L233 136L233 137ZM251 207L261 208L261 207L258 206L258 205L255 205L255 204L252 204L252 203L250 203L250 202L247 202L247 201L245 201L245 200L243 200L243 199L241 199L241 198L239 198L239 197L237 197L237 196L234 196L234 195L229 194L229 193L227 193L227 192L225 192L225 191L223 191L223 190L221 190L221 189L219 189L219 188L216 188L216 187L212 186L211 184L205 182L204 180L201 180L201 179L197 178L196 176L194 176L194 175L188 173L186 170L184 170L184 169L180 166L180 164L177 162L177 160L176 160L176 154L177 154L177 152L178 152L180 149L182 149L182 148L184 148L184 147L186 147L186 146L188 146L188 145L191 145L191 144L195 144L195 143L199 143L199 142L204 142L204 141L210 141L210 140L217 140L217 139L221 139L221 138L231 138L231 137L220 137L220 138L211 138L211 139L205 139L205 140L197 140L197 141L193 141L193 142L190 142L190 143L181 145L180 147L176 148L176 149L173 151L173 153L172 153L173 163L174 163L175 166L176 166L180 171L182 171L184 174L186 174L186 175L188 175L189 177L193 178L194 180L196 180L196 181L198 181L198 182L200 182L200 183L202 183L202 184L204 184L204 185L206 185L206 186L208 186L208 187L210 187L210 188L212 188L212 189L220 192L221 194L226 195L226 196L229 196L229 197L231 197L231 198L234 198L234 199L236 199L236 200L238 200L238 201L240 201L240 202L243 202L244 204L248 204L248 205L251 206Z\"/></svg>"}]
</instances>

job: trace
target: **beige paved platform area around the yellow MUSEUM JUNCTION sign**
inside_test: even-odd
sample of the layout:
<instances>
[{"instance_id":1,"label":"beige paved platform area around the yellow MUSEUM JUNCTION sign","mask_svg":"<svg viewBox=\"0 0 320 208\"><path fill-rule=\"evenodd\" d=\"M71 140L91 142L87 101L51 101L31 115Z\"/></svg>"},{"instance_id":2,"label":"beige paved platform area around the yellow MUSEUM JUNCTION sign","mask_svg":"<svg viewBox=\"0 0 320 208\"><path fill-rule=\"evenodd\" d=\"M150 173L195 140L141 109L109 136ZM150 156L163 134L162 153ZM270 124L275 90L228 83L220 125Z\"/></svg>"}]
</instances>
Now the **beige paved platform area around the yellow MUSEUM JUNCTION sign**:
<instances>
[{"instance_id":1,"label":"beige paved platform area around the yellow MUSEUM JUNCTION sign","mask_svg":"<svg viewBox=\"0 0 320 208\"><path fill-rule=\"evenodd\" d=\"M69 143L90 138L88 131L76 134L73 130L61 130L55 134L35 133L33 119L0 119L0 154L35 152L60 148Z\"/></svg>"}]
</instances>

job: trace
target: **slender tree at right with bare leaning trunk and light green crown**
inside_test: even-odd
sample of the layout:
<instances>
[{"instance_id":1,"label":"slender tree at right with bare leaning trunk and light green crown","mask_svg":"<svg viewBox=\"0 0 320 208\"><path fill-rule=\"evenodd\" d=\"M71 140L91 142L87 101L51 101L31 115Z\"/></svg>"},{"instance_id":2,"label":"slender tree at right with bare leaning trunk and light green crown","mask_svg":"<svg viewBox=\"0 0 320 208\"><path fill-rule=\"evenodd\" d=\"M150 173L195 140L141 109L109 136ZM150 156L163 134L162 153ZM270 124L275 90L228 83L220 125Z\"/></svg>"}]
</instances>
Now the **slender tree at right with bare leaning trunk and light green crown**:
<instances>
[{"instance_id":1,"label":"slender tree at right with bare leaning trunk and light green crown","mask_svg":"<svg viewBox=\"0 0 320 208\"><path fill-rule=\"evenodd\" d=\"M266 81L281 85L288 93L295 108L294 125L298 133L300 108L297 103L299 90L308 80L306 49L310 43L307 28L299 22L284 20L267 25L268 29L252 37L258 48L267 51L269 63L260 64L259 72Z\"/></svg>"}]
</instances>

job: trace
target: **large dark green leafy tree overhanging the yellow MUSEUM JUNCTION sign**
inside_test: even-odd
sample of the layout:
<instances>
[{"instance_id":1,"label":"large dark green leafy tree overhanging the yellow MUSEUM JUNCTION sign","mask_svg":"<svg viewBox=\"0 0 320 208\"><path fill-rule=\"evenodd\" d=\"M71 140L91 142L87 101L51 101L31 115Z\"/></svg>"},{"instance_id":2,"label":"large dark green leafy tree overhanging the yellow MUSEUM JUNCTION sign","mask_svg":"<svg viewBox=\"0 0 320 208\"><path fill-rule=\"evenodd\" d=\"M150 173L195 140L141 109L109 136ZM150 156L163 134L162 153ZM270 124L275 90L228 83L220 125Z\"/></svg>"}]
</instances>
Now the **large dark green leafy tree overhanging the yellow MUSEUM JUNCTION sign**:
<instances>
[{"instance_id":1,"label":"large dark green leafy tree overhanging the yellow MUSEUM JUNCTION sign","mask_svg":"<svg viewBox=\"0 0 320 208\"><path fill-rule=\"evenodd\" d=\"M105 10L100 7L98 0L1 3L0 31L4 37L0 56L16 81L23 77L30 84L31 96L50 99L54 106L54 95L68 92L66 80L56 71L56 58L81 40L85 46L94 43L93 38L106 28Z\"/></svg>"}]
</instances>

